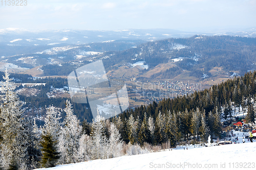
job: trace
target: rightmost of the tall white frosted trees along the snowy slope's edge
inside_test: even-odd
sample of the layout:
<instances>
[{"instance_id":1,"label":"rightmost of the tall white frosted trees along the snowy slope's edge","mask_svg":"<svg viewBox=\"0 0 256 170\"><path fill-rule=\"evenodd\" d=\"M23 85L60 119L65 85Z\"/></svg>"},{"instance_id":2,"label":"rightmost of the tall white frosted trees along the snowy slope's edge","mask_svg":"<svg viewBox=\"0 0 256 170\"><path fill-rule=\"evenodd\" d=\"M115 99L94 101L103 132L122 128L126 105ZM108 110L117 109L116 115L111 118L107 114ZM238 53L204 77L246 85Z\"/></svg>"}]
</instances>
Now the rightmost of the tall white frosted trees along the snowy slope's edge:
<instances>
[{"instance_id":1,"label":"rightmost of the tall white frosted trees along the snowy slope's edge","mask_svg":"<svg viewBox=\"0 0 256 170\"><path fill-rule=\"evenodd\" d=\"M109 157L115 158L122 155L122 145L123 142L120 140L121 135L116 128L114 123L110 124L110 137L109 137Z\"/></svg>"}]
</instances>

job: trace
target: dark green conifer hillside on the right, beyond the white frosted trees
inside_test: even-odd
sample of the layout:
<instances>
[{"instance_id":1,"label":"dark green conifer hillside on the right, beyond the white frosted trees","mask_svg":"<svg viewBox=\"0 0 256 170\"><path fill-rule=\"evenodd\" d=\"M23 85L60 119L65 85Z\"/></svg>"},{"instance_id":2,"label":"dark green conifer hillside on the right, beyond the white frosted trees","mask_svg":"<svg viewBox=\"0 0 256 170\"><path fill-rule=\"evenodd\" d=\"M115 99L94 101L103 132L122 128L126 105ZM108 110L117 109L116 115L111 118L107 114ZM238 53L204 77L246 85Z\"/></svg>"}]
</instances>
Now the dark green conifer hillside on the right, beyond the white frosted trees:
<instances>
[{"instance_id":1,"label":"dark green conifer hillside on the right, beyond the white frosted trees","mask_svg":"<svg viewBox=\"0 0 256 170\"><path fill-rule=\"evenodd\" d=\"M243 77L213 85L210 89L124 111L119 115L124 124L122 138L126 142L136 139L141 144L149 141L155 144L170 141L175 145L177 141L188 140L195 135L200 135L202 139L206 139L208 134L220 137L222 128L220 119L233 118L232 106L234 112L236 107L239 109L241 107L243 111L248 109L245 118L248 123L255 123L255 90L256 72L254 71L248 72ZM150 133L149 129L143 127L150 127L149 124L153 120L155 129ZM134 127L133 125L136 125L136 130L132 132L131 129L127 129ZM148 135L139 137L141 134Z\"/></svg>"}]
</instances>

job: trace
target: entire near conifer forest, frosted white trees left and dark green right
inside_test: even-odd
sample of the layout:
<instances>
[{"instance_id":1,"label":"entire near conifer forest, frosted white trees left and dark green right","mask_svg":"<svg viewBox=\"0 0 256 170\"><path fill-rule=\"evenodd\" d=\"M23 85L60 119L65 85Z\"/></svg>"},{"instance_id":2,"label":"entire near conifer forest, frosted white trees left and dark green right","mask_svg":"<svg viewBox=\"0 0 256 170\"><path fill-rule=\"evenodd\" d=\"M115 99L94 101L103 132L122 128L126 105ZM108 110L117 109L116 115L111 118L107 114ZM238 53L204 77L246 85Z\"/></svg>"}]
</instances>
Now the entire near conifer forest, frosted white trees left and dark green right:
<instances>
[{"instance_id":1,"label":"entire near conifer forest, frosted white trees left and dark green right","mask_svg":"<svg viewBox=\"0 0 256 170\"><path fill-rule=\"evenodd\" d=\"M49 105L45 124L40 127L35 119L25 116L9 76L6 72L1 88L1 169L142 154L184 142L203 144L209 134L220 137L221 118L229 120L231 112L240 109L248 109L245 119L255 123L255 71L190 95L130 109L111 119L98 115L92 123L80 122L67 100L66 116L61 117L61 109Z\"/></svg>"}]
</instances>

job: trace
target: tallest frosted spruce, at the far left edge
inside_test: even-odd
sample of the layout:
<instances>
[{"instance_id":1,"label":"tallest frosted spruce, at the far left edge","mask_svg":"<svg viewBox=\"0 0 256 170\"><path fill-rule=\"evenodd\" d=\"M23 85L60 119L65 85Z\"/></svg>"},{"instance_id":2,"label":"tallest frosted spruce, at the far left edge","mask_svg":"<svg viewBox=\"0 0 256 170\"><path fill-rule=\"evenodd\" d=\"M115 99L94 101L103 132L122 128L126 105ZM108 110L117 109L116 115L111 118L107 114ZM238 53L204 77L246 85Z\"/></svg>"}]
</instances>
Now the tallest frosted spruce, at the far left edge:
<instances>
[{"instance_id":1,"label":"tallest frosted spruce, at the far left edge","mask_svg":"<svg viewBox=\"0 0 256 170\"><path fill-rule=\"evenodd\" d=\"M9 76L6 71L3 76L5 82L2 81L0 88L3 93L0 106L0 165L3 169L19 168L26 151L26 144L21 143L25 135L23 103L19 101L14 82Z\"/></svg>"}]
</instances>

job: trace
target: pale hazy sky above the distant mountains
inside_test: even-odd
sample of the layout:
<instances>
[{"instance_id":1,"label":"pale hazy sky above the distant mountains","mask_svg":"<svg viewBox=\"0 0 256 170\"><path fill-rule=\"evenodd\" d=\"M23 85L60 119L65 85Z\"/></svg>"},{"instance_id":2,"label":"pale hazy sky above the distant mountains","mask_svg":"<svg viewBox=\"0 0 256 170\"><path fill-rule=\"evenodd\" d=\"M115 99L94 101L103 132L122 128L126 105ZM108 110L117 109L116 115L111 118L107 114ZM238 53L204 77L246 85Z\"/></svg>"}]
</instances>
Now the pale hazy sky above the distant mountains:
<instances>
[{"instance_id":1,"label":"pale hazy sky above the distant mountains","mask_svg":"<svg viewBox=\"0 0 256 170\"><path fill-rule=\"evenodd\" d=\"M0 29L244 29L256 27L256 0L27 0L0 2L0 16Z\"/></svg>"}]
</instances>

